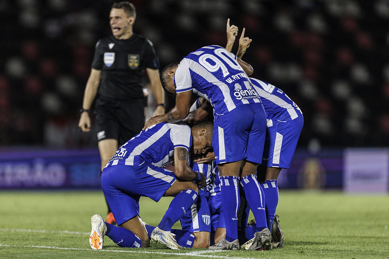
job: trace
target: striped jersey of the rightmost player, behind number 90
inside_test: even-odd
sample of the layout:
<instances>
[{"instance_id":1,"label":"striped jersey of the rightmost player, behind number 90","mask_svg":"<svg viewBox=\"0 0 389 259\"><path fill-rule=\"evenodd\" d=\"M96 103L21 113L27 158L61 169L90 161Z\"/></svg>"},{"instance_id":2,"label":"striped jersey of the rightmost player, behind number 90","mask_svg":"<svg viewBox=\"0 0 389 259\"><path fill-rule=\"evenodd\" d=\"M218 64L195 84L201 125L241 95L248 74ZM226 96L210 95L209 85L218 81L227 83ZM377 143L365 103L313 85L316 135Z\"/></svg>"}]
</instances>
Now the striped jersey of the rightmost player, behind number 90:
<instances>
[{"instance_id":1,"label":"striped jersey of the rightmost player, behind number 90","mask_svg":"<svg viewBox=\"0 0 389 259\"><path fill-rule=\"evenodd\" d=\"M269 120L291 121L302 114L297 104L281 89L255 78L250 77L250 81L260 96L268 122Z\"/></svg>"}]
</instances>

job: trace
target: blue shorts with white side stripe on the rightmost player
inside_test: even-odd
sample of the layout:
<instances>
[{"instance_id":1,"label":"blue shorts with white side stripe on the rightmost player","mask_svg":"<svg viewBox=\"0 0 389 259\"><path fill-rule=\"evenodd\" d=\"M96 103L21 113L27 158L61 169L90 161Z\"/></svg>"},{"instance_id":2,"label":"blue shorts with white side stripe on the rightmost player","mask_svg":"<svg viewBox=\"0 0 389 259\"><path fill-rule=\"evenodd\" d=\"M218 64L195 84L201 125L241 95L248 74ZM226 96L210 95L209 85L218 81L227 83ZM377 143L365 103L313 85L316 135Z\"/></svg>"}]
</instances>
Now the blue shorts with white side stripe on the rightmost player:
<instances>
[{"instance_id":1,"label":"blue shorts with white side stripe on the rightmost player","mask_svg":"<svg viewBox=\"0 0 389 259\"><path fill-rule=\"evenodd\" d=\"M273 121L266 131L261 166L289 168L303 124L302 115L292 121Z\"/></svg>"}]
</instances>

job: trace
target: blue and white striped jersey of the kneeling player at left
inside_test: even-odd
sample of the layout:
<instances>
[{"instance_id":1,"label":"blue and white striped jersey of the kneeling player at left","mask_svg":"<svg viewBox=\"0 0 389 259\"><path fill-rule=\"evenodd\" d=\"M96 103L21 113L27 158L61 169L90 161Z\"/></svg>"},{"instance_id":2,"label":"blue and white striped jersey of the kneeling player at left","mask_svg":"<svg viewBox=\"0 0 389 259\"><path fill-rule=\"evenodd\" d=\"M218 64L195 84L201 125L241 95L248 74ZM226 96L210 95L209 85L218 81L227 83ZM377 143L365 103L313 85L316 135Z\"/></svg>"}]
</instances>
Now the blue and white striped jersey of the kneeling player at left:
<instances>
[{"instance_id":1,"label":"blue and white striped jersey of the kneeling player at left","mask_svg":"<svg viewBox=\"0 0 389 259\"><path fill-rule=\"evenodd\" d=\"M148 163L164 168L174 158L174 148L184 147L189 152L191 145L192 134L188 125L184 122L161 122L142 130L127 141L105 167Z\"/></svg>"}]
</instances>

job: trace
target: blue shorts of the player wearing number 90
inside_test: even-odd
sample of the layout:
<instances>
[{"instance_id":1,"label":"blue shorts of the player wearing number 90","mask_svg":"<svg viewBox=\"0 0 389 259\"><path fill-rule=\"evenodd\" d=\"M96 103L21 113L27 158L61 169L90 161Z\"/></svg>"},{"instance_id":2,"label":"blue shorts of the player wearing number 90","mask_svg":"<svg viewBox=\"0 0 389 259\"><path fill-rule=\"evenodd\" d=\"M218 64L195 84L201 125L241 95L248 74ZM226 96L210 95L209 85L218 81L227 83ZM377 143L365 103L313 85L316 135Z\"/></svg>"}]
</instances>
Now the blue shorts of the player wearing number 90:
<instances>
[{"instance_id":1,"label":"blue shorts of the player wearing number 90","mask_svg":"<svg viewBox=\"0 0 389 259\"><path fill-rule=\"evenodd\" d=\"M261 103L243 104L215 116L212 147L216 164L242 159L262 162L266 136L266 114Z\"/></svg>"}]
</instances>

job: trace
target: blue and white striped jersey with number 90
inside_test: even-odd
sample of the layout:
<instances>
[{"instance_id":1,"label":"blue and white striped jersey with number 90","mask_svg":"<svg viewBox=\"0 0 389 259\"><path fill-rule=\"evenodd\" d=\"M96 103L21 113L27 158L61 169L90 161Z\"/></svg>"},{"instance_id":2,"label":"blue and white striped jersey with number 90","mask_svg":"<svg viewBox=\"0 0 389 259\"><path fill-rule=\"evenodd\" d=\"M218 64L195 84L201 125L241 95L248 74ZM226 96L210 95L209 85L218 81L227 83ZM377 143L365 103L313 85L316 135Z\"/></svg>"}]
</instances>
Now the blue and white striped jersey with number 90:
<instances>
[{"instance_id":1,"label":"blue and white striped jersey with number 90","mask_svg":"<svg viewBox=\"0 0 389 259\"><path fill-rule=\"evenodd\" d=\"M179 64L174 83L176 92L193 90L222 115L242 104L260 103L237 57L216 45L189 53Z\"/></svg>"}]
</instances>

